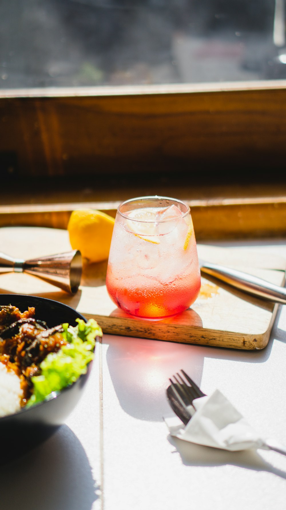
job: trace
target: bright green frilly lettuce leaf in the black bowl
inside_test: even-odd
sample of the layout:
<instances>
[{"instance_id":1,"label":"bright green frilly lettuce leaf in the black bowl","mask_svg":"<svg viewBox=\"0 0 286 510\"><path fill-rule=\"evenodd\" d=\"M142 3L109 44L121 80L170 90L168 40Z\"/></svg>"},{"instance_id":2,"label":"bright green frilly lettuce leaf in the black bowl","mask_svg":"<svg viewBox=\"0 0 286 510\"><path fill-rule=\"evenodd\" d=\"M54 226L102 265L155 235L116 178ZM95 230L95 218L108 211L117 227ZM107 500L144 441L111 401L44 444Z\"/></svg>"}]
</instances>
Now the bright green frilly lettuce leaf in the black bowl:
<instances>
[{"instance_id":1,"label":"bright green frilly lettuce leaf in the black bowl","mask_svg":"<svg viewBox=\"0 0 286 510\"><path fill-rule=\"evenodd\" d=\"M95 338L102 336L102 330L94 319L76 321L74 327L63 324L67 345L58 352L50 352L40 364L41 374L31 378L34 391L26 407L42 402L50 393L66 388L87 372L87 365L94 358Z\"/></svg>"}]
</instances>

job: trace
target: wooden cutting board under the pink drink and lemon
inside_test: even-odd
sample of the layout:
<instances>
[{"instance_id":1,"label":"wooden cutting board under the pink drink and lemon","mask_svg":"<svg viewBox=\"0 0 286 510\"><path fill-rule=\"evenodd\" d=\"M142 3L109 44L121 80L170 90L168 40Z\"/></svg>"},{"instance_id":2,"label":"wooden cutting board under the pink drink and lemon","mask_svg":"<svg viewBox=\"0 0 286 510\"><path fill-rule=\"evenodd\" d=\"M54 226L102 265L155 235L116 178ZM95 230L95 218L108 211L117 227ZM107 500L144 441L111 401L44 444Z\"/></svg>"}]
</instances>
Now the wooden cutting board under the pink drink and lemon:
<instances>
[{"instance_id":1,"label":"wooden cutting board under the pink drink and lemon","mask_svg":"<svg viewBox=\"0 0 286 510\"><path fill-rule=\"evenodd\" d=\"M0 228L0 249L11 257L35 258L71 249L66 230L42 227ZM218 248L198 244L199 257L235 267L276 285L284 285L286 261L269 246ZM191 309L163 320L133 318L108 296L107 262L84 265L81 285L71 296L25 273L0 274L0 292L43 296L69 304L86 318L95 318L103 333L131 337L262 349L269 340L278 305L253 298L214 279L202 278L202 289Z\"/></svg>"}]
</instances>

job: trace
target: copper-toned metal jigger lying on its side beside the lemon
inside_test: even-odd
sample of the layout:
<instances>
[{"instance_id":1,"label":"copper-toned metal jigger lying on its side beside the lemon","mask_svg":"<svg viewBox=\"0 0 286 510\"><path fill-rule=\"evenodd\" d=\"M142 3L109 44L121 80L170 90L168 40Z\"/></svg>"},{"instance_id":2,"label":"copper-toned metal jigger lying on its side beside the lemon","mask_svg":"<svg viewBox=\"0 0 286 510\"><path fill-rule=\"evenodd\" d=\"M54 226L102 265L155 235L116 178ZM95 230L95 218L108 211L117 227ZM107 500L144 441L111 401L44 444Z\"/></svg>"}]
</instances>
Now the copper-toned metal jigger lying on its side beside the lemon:
<instances>
[{"instance_id":1,"label":"copper-toned metal jigger lying on its side beside the lemon","mask_svg":"<svg viewBox=\"0 0 286 510\"><path fill-rule=\"evenodd\" d=\"M0 252L1 273L29 273L60 289L75 294L80 284L82 259L79 250L48 255L39 259L12 259Z\"/></svg>"}]
</instances>

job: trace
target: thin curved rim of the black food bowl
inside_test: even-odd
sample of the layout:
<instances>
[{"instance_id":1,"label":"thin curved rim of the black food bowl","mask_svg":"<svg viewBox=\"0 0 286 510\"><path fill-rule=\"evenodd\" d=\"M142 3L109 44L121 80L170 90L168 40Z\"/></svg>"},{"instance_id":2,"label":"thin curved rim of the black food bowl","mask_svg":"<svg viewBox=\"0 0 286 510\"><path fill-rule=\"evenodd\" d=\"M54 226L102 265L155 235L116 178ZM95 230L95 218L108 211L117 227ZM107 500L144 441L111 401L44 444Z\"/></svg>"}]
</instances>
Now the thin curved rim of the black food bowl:
<instances>
[{"instance_id":1,"label":"thin curved rim of the black food bowl","mask_svg":"<svg viewBox=\"0 0 286 510\"><path fill-rule=\"evenodd\" d=\"M61 307L64 307L64 308L67 308L67 309L70 309L71 311L75 312L76 314L78 314L78 317L79 319L82 319L84 320L85 323L88 322L87 318L84 317L80 312L77 312L74 308L70 307L70 305L66 304L66 303L62 303L61 301L56 301L55 299L49 299L49 298L46 298L46 297L42 297L42 296L34 296L34 295L28 295L28 294L0 294L0 301L2 300L2 296L13 296L13 297L19 297L19 298L36 298L36 299L39 299L40 301L44 301L46 302L47 301L47 304L51 304L51 303L56 303L56 305L59 305L60 308ZM96 341L99 337L96 336ZM95 351L95 348L94 348L94 351ZM31 411L32 409L36 409L36 407L39 407L43 404L45 404L46 402L49 402L50 400L54 400L56 398L58 398L62 393L70 390L75 384L78 383L78 381L84 377L87 372L88 372L88 367L90 366L90 364L93 362L93 360L91 360L88 364L87 364L87 371L83 374L80 374L80 376L74 381L72 382L72 384L66 386L65 388L63 388L62 390L58 390L58 391L53 391L51 392L49 395L47 395L44 400L42 400L41 402L38 402L34 405L32 405L31 407L21 407L21 409L19 409L19 411L16 411L16 413L10 413L8 415L5 415L5 416L0 416L0 423L3 423L5 422L6 420L8 421L9 419L11 419L13 416L19 416L19 415L22 415L23 413L27 413L28 411Z\"/></svg>"}]
</instances>

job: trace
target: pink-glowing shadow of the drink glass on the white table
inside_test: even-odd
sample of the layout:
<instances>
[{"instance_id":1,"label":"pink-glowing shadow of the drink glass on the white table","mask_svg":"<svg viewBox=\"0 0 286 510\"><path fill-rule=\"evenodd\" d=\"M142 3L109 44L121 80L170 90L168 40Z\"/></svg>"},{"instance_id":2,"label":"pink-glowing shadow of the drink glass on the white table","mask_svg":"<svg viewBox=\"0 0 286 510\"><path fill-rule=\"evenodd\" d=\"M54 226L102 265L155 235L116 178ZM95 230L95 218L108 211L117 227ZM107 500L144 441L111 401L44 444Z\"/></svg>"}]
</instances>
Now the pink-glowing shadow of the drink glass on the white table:
<instances>
[{"instance_id":1,"label":"pink-glowing shadow of the drink glass on the white table","mask_svg":"<svg viewBox=\"0 0 286 510\"><path fill-rule=\"evenodd\" d=\"M110 338L106 362L122 409L134 418L162 421L170 409L168 378L184 368L199 384L204 356L194 345L121 337Z\"/></svg>"}]
</instances>

